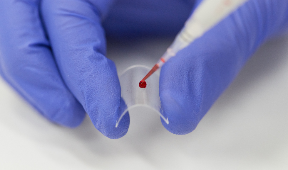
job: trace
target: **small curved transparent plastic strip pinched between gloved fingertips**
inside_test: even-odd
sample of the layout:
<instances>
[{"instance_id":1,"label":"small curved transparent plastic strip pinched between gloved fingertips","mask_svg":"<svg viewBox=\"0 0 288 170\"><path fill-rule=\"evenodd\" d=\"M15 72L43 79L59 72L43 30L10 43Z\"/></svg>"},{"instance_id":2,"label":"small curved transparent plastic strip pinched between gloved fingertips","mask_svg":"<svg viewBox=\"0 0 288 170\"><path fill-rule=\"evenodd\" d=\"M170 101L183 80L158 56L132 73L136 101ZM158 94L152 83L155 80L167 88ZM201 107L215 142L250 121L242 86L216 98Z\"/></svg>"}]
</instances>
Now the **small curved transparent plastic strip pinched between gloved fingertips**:
<instances>
[{"instance_id":1,"label":"small curved transparent plastic strip pinched between gloved fingertips","mask_svg":"<svg viewBox=\"0 0 288 170\"><path fill-rule=\"evenodd\" d=\"M151 68L144 65L133 65L124 70L119 77L121 86L121 104L115 127L128 112L129 109L138 106L148 107L157 112L160 117L169 124L164 114L159 97L159 76L152 74L146 79L146 88L140 88L139 82L145 77Z\"/></svg>"}]
</instances>

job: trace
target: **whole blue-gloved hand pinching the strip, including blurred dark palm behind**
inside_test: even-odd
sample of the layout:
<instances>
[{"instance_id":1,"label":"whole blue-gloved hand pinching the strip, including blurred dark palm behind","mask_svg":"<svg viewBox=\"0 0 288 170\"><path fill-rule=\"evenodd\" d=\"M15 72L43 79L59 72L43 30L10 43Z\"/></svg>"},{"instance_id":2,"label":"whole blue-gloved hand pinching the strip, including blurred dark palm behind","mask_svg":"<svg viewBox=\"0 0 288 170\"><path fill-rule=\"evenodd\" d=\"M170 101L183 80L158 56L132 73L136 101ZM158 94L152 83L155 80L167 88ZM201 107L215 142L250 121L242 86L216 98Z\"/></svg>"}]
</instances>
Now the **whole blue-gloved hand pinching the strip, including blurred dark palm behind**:
<instances>
[{"instance_id":1,"label":"whole blue-gloved hand pinching the strip, including blurred dark palm behind","mask_svg":"<svg viewBox=\"0 0 288 170\"><path fill-rule=\"evenodd\" d=\"M2 77L49 120L75 127L86 111L100 132L119 138L128 130L129 115L115 128L120 86L115 65L105 57L101 27L112 4L0 1L0 67ZM109 35L173 34L193 4L118 1L103 25ZM195 129L257 47L286 28L287 6L284 0L250 0L163 66L160 99L170 122L162 122L166 129L175 134Z\"/></svg>"}]
</instances>

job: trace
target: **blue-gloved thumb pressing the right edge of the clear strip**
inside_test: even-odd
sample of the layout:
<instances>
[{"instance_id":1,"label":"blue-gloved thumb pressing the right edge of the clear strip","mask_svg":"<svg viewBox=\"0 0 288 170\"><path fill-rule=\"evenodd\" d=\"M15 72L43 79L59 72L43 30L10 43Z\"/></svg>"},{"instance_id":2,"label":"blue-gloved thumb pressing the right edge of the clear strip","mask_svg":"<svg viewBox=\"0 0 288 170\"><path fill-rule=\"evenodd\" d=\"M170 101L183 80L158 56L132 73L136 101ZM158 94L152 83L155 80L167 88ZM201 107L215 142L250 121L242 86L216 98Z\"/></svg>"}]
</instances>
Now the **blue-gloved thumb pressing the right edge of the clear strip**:
<instances>
[{"instance_id":1,"label":"blue-gloved thumb pressing the right edge of the clear strip","mask_svg":"<svg viewBox=\"0 0 288 170\"><path fill-rule=\"evenodd\" d=\"M250 0L168 60L160 74L165 128L192 132L255 50L287 25L288 1Z\"/></svg>"}]
</instances>

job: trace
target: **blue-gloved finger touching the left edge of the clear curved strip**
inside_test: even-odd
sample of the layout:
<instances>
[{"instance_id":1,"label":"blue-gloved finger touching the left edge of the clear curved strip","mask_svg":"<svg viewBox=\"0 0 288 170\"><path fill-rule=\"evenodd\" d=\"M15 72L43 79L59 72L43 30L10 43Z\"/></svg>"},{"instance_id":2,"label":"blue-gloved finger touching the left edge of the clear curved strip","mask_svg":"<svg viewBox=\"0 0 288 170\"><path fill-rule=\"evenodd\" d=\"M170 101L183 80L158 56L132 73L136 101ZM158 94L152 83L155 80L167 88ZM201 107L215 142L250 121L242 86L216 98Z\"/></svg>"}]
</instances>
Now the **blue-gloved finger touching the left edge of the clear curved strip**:
<instances>
[{"instance_id":1,"label":"blue-gloved finger touching the left edge of the clear curved strip","mask_svg":"<svg viewBox=\"0 0 288 170\"><path fill-rule=\"evenodd\" d=\"M129 115L115 127L121 89L115 64L105 57L101 26L111 3L111 0L43 0L41 12L68 88L101 133L119 138L128 131Z\"/></svg>"}]
</instances>

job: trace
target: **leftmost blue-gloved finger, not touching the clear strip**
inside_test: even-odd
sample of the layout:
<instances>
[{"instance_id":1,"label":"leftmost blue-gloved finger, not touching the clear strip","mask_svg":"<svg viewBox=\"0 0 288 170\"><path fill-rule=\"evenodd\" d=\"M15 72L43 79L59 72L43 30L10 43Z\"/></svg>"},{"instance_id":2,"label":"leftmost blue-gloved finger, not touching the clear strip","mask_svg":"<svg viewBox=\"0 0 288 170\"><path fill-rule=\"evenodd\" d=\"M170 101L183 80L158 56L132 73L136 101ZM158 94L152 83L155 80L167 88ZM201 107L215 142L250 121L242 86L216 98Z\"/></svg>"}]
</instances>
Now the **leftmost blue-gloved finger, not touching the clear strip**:
<instances>
[{"instance_id":1,"label":"leftmost blue-gloved finger, not touching the clear strip","mask_svg":"<svg viewBox=\"0 0 288 170\"><path fill-rule=\"evenodd\" d=\"M75 127L85 111L61 79L39 18L38 2L0 1L0 72L46 118Z\"/></svg>"}]
</instances>

